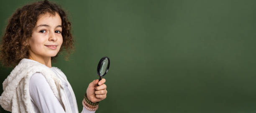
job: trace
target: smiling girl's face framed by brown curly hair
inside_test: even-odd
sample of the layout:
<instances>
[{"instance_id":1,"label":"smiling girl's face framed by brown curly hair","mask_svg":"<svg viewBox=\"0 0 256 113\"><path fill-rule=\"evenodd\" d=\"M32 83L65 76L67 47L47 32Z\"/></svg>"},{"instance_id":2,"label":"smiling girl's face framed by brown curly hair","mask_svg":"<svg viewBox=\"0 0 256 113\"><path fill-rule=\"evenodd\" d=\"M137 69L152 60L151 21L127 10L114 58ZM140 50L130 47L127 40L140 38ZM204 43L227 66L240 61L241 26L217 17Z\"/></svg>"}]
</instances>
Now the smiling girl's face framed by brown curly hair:
<instances>
[{"instance_id":1,"label":"smiling girl's face framed by brown curly hair","mask_svg":"<svg viewBox=\"0 0 256 113\"><path fill-rule=\"evenodd\" d=\"M40 15L28 40L29 54L32 57L56 56L63 42L61 35L61 17L59 14Z\"/></svg>"}]
</instances>

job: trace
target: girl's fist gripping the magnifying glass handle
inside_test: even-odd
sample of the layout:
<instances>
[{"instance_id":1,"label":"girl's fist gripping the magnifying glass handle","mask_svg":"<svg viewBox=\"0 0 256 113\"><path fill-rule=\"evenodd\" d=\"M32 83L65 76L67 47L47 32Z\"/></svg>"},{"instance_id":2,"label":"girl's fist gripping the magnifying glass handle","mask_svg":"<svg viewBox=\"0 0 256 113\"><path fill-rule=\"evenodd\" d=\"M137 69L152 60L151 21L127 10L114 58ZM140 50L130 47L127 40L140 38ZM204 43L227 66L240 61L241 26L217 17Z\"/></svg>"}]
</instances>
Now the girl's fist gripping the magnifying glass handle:
<instances>
[{"instance_id":1,"label":"girl's fist gripping the magnifying glass handle","mask_svg":"<svg viewBox=\"0 0 256 113\"><path fill-rule=\"evenodd\" d=\"M107 97L107 86L104 84L105 81L105 79L101 79L99 82L99 80L96 79L89 84L86 90L89 101L96 103ZM97 86L97 84L99 84L99 86Z\"/></svg>"}]
</instances>

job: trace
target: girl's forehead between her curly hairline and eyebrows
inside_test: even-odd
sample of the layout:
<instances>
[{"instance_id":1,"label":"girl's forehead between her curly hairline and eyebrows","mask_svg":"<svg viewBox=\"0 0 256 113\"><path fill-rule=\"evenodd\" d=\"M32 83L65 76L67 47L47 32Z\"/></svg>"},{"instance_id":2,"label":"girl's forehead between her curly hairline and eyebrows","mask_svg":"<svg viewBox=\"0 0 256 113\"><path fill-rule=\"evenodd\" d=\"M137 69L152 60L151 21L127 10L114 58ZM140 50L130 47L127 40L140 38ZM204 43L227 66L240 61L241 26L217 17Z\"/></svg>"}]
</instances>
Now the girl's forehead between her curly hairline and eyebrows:
<instances>
[{"instance_id":1,"label":"girl's forehead between her curly hairline and eyebrows","mask_svg":"<svg viewBox=\"0 0 256 113\"><path fill-rule=\"evenodd\" d=\"M41 24L46 24L49 26L61 25L61 17L56 12L55 12L55 15L52 15L48 12L45 14L41 14L38 16L36 26L41 25Z\"/></svg>"}]
</instances>

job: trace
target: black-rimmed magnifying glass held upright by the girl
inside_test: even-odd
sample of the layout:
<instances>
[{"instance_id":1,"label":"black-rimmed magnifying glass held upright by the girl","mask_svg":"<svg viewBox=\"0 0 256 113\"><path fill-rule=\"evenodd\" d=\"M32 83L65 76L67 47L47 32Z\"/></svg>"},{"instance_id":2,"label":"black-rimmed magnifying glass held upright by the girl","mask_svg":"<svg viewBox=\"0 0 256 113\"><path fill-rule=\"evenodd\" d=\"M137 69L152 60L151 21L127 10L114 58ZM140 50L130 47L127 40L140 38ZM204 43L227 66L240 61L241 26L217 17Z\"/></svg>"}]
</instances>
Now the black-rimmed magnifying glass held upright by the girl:
<instances>
[{"instance_id":1,"label":"black-rimmed magnifying glass held upright by the girl","mask_svg":"<svg viewBox=\"0 0 256 113\"><path fill-rule=\"evenodd\" d=\"M100 59L98 67L97 67L97 74L98 74L98 76L100 76L99 81L101 80L101 78L103 76L105 76L105 74L108 73L109 65L110 65L110 61L107 56L104 56ZM97 84L97 86L99 86L99 85Z\"/></svg>"}]
</instances>

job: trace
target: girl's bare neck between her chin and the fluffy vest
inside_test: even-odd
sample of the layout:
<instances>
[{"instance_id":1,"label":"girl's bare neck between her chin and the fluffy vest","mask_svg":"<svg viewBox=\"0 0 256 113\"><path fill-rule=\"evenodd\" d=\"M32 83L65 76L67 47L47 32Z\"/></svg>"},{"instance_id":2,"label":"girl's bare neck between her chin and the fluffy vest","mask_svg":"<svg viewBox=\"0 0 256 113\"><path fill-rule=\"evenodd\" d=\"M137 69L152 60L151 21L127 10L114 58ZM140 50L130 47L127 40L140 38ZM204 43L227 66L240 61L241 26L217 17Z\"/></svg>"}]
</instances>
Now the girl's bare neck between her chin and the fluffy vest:
<instances>
[{"instance_id":1,"label":"girl's bare neck between her chin and the fluffy vest","mask_svg":"<svg viewBox=\"0 0 256 113\"><path fill-rule=\"evenodd\" d=\"M38 61L39 63L44 64L44 65L48 66L49 68L51 68L51 56L40 57L40 56L30 54L28 59Z\"/></svg>"}]
</instances>

